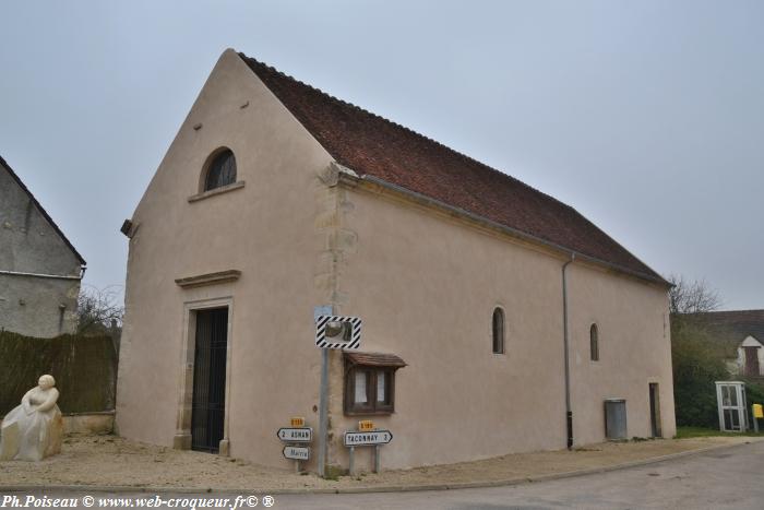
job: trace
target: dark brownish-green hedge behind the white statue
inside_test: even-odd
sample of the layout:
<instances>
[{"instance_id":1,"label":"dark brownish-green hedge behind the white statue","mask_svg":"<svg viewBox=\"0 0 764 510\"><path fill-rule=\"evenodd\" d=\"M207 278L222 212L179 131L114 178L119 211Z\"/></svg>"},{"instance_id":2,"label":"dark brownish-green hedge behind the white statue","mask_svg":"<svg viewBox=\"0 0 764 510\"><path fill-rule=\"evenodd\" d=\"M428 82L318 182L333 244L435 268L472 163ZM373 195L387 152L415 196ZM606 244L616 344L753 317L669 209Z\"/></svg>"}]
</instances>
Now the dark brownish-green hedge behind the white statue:
<instances>
[{"instance_id":1,"label":"dark brownish-green hedge behind the white statue","mask_svg":"<svg viewBox=\"0 0 764 510\"><path fill-rule=\"evenodd\" d=\"M117 354L109 336L34 339L0 331L0 416L19 405L43 373L56 378L62 413L115 408Z\"/></svg>"}]
</instances>

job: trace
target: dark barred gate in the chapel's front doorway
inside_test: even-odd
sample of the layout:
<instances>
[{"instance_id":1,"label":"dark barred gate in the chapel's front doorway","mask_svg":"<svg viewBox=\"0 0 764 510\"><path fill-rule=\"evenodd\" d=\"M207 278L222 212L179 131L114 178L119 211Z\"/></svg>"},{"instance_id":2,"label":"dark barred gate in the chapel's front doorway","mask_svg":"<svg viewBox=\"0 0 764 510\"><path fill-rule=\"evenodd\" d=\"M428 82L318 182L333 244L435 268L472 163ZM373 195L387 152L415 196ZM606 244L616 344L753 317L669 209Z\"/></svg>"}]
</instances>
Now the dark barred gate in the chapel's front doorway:
<instances>
[{"instance_id":1,"label":"dark barred gate in the chapel's front doorway","mask_svg":"<svg viewBox=\"0 0 764 510\"><path fill-rule=\"evenodd\" d=\"M217 453L226 406L228 308L196 312L191 448Z\"/></svg>"}]
</instances>

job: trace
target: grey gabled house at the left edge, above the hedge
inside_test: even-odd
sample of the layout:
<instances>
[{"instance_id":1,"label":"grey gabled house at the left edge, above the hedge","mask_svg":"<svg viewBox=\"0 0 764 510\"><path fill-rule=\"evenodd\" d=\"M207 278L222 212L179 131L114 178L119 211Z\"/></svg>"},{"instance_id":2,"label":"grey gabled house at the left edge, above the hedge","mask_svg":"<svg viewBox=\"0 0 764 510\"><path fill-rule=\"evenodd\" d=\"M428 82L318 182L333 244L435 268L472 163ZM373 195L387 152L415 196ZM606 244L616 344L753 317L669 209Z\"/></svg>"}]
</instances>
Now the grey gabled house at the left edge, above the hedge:
<instances>
[{"instance_id":1,"label":"grey gabled house at the left edge, above the hedge","mask_svg":"<svg viewBox=\"0 0 764 510\"><path fill-rule=\"evenodd\" d=\"M73 333L84 272L85 260L0 157L0 329Z\"/></svg>"}]
</instances>

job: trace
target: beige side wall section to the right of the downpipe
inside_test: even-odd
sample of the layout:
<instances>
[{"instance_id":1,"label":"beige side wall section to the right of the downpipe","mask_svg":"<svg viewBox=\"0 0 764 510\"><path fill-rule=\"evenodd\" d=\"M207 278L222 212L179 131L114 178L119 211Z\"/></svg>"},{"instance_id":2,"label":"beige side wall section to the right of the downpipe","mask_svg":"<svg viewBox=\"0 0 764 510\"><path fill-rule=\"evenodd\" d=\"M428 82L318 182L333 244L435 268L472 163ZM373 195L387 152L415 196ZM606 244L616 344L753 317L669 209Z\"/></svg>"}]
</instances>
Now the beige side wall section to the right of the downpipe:
<instances>
[{"instance_id":1,"label":"beige side wall section to the right of the downpipe","mask_svg":"<svg viewBox=\"0 0 764 510\"><path fill-rule=\"evenodd\" d=\"M652 436L649 383L658 383L662 437L676 434L666 292L583 265L569 270L571 395L576 443L604 440L602 401L626 400L628 436ZM599 360L589 356L597 324Z\"/></svg>"}]
</instances>

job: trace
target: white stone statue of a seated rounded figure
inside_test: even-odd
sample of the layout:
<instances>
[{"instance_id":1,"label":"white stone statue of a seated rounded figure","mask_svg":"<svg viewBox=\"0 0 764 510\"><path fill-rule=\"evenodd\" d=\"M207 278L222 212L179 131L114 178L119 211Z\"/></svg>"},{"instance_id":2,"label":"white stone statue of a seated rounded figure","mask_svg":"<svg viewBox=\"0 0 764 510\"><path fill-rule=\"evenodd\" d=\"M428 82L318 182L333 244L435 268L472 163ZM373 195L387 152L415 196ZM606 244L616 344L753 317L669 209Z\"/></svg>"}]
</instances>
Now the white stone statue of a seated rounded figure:
<instances>
[{"instance_id":1,"label":"white stone statue of a seated rounded figure","mask_svg":"<svg viewBox=\"0 0 764 510\"><path fill-rule=\"evenodd\" d=\"M21 405L5 415L0 430L0 461L40 461L61 452L63 419L56 405L52 376L41 376Z\"/></svg>"}]
</instances>

